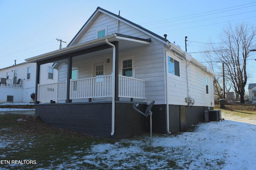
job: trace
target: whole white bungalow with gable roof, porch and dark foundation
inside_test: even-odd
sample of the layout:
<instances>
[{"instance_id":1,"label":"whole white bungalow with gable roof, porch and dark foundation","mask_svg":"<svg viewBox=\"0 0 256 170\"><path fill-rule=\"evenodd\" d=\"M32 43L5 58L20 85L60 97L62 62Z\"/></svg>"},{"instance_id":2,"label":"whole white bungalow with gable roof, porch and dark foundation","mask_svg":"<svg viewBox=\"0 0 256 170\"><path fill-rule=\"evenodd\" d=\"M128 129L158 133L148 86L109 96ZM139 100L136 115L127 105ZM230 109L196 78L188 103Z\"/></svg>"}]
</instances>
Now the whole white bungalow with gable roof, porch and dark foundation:
<instances>
[{"instance_id":1,"label":"whole white bungalow with gable roof, porch and dark foundation","mask_svg":"<svg viewBox=\"0 0 256 170\"><path fill-rule=\"evenodd\" d=\"M56 127L100 137L148 131L133 109L152 107L153 133L176 133L214 107L214 72L166 38L100 7L68 46L26 59L37 64L36 115ZM58 83L42 84L55 63ZM51 104L39 104L52 100Z\"/></svg>"}]
</instances>

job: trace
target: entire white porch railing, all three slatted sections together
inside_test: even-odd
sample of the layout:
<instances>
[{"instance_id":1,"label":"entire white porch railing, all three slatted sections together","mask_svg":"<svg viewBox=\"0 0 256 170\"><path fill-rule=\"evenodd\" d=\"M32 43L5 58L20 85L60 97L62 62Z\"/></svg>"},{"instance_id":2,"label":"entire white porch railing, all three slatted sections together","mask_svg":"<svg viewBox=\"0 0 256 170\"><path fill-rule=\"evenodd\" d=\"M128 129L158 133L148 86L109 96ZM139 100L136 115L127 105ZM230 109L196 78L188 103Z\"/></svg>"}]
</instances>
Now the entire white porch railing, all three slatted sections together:
<instances>
[{"instance_id":1,"label":"entire white porch railing, all three slatted sections together","mask_svg":"<svg viewBox=\"0 0 256 170\"><path fill-rule=\"evenodd\" d=\"M118 76L118 97L145 99L145 81ZM38 101L66 99L66 82L38 85ZM70 99L112 97L112 76L70 79Z\"/></svg>"}]
</instances>

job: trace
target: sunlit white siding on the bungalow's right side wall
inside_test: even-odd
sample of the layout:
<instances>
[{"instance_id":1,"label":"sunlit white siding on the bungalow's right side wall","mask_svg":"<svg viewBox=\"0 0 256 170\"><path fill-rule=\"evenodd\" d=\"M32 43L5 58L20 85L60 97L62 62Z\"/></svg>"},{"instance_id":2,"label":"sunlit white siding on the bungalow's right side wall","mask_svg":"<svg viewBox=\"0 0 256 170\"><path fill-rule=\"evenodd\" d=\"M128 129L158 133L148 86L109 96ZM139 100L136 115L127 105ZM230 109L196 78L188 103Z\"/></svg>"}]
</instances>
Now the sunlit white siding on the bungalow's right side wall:
<instances>
[{"instance_id":1,"label":"sunlit white siding on the bungalow's right side wall","mask_svg":"<svg viewBox=\"0 0 256 170\"><path fill-rule=\"evenodd\" d=\"M186 70L185 59L179 60L173 53L168 55L180 62L180 77L168 74L169 104L186 106L188 103L185 102L185 98L190 96L195 100L193 106L214 106L213 79L210 78L210 74L206 74L200 67L188 61ZM208 92L212 95L206 95L206 76L208 77Z\"/></svg>"}]
</instances>

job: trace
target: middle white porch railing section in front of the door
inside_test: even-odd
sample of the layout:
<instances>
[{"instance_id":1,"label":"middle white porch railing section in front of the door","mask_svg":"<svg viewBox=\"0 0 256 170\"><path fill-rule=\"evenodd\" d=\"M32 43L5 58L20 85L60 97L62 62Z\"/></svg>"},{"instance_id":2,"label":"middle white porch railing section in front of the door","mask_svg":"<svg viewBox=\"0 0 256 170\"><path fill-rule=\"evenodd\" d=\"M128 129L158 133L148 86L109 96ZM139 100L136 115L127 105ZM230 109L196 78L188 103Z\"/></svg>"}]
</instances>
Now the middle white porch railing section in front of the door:
<instances>
[{"instance_id":1,"label":"middle white porch railing section in front of the door","mask_svg":"<svg viewBox=\"0 0 256 170\"><path fill-rule=\"evenodd\" d=\"M112 76L70 80L70 99L111 97Z\"/></svg>"}]
</instances>

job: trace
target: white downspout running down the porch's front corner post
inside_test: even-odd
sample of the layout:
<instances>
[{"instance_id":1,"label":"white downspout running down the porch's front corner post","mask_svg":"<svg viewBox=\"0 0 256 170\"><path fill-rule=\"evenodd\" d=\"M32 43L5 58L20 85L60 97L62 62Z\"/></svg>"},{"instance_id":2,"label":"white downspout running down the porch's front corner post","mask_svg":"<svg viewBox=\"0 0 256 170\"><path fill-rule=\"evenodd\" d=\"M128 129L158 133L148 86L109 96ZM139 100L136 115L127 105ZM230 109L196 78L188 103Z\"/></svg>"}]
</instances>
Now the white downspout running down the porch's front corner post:
<instances>
[{"instance_id":1,"label":"white downspout running down the porch's front corner post","mask_svg":"<svg viewBox=\"0 0 256 170\"><path fill-rule=\"evenodd\" d=\"M106 39L106 43L113 47L113 68L112 68L112 120L111 120L111 133L110 136L113 136L115 133L115 72L116 72L116 46Z\"/></svg>"}]
</instances>

